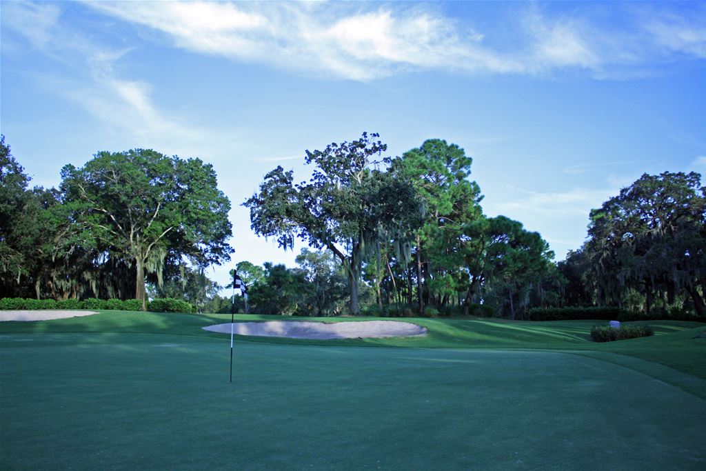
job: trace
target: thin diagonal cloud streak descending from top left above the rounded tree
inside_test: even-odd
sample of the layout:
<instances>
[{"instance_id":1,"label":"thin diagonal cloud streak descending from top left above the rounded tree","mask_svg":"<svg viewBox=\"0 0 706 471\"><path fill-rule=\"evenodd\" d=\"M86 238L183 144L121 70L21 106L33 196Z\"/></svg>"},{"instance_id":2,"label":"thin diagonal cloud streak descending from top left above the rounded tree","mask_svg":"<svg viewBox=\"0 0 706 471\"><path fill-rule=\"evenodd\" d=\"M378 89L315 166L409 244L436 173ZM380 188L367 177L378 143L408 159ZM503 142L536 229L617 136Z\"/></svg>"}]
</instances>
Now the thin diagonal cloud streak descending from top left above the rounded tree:
<instances>
[{"instance_id":1,"label":"thin diagonal cloud streak descending from top left above the rounded tree","mask_svg":"<svg viewBox=\"0 0 706 471\"><path fill-rule=\"evenodd\" d=\"M116 72L116 62L130 49L113 49L69 28L61 21L58 4L7 3L3 15L4 27L71 71L64 76L44 75L41 80L116 133L145 146L169 143L173 149L191 150L196 145L190 143L208 140L208 131L159 109L149 83L129 80Z\"/></svg>"}]
</instances>

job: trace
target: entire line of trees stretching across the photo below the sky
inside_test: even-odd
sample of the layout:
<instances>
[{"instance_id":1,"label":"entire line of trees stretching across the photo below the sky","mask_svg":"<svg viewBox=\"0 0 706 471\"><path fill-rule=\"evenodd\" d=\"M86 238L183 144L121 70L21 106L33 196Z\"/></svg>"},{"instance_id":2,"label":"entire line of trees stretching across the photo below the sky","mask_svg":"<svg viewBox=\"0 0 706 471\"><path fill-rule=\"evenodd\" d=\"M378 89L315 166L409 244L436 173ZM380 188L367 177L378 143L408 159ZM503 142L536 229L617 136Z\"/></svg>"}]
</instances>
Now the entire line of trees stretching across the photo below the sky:
<instances>
[{"instance_id":1,"label":"entire line of trees stretching across the photo below the sky","mask_svg":"<svg viewBox=\"0 0 706 471\"><path fill-rule=\"evenodd\" d=\"M229 259L228 199L210 165L152 150L98 153L27 189L2 144L0 295L229 299L204 275ZM555 263L537 232L484 215L472 159L424 141L400 157L376 133L306 150L311 177L276 167L243 205L297 267L238 264L261 314L474 314L620 306L706 316L706 189L695 172L643 175L590 213L587 240ZM238 299L238 302L242 302Z\"/></svg>"}]
</instances>

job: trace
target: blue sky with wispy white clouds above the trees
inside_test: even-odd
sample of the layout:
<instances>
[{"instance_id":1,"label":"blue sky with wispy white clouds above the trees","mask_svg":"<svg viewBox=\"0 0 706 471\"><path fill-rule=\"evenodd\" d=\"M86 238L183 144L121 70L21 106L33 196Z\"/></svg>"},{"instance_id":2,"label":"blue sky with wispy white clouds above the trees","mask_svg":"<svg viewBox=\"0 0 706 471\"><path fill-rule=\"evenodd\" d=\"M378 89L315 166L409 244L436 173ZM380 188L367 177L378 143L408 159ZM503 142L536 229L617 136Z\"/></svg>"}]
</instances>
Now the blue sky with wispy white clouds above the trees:
<instances>
[{"instance_id":1,"label":"blue sky with wispy white clouds above the trees","mask_svg":"<svg viewBox=\"0 0 706 471\"><path fill-rule=\"evenodd\" d=\"M32 185L102 150L213 164L232 262L294 266L241 206L380 133L472 157L489 216L556 260L644 173L706 174L706 2L0 2L0 131Z\"/></svg>"}]
</instances>

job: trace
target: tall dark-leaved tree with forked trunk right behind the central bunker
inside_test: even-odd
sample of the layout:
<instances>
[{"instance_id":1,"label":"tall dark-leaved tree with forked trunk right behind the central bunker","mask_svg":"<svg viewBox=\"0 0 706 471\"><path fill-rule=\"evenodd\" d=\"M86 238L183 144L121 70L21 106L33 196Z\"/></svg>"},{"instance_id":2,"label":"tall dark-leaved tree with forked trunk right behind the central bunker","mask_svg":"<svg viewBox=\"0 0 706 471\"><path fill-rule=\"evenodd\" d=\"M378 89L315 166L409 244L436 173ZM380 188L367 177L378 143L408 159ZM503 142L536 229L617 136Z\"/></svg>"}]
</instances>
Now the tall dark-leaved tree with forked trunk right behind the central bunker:
<instances>
[{"instance_id":1,"label":"tall dark-leaved tree with forked trunk right behind the central bunker","mask_svg":"<svg viewBox=\"0 0 706 471\"><path fill-rule=\"evenodd\" d=\"M308 182L294 184L293 172L277 167L244 203L257 234L276 237L285 249L299 237L335 254L347 275L351 314L359 314L362 263L379 249L381 239L405 232L407 215L419 210L407 180L371 168L390 162L371 160L387 149L376 138L376 133L363 133L357 141L307 150L306 164L316 165Z\"/></svg>"}]
</instances>

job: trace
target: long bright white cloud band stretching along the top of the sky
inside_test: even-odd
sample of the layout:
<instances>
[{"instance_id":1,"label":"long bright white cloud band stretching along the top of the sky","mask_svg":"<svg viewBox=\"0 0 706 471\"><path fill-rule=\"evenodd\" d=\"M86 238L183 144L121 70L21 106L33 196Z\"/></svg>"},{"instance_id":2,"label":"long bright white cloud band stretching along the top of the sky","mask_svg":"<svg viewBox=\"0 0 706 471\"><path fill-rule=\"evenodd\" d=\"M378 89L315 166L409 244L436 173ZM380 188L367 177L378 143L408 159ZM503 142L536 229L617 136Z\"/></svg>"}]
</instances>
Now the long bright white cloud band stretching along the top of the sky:
<instances>
[{"instance_id":1,"label":"long bright white cloud band stretching along the top of the sky","mask_svg":"<svg viewBox=\"0 0 706 471\"><path fill-rule=\"evenodd\" d=\"M615 75L665 49L702 59L706 9L628 18L607 27L590 14L552 15L516 6L516 44L422 4L328 2L90 2L98 11L164 34L176 47L268 64L313 76L371 81L407 71L541 74L563 69ZM642 8L641 11L644 11ZM635 24L633 24L635 23ZM493 39L493 38L490 38ZM635 71L633 71L635 73Z\"/></svg>"}]
</instances>

